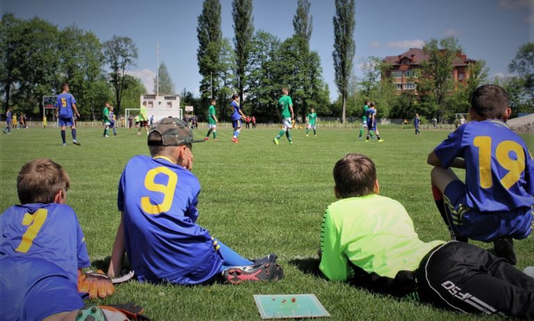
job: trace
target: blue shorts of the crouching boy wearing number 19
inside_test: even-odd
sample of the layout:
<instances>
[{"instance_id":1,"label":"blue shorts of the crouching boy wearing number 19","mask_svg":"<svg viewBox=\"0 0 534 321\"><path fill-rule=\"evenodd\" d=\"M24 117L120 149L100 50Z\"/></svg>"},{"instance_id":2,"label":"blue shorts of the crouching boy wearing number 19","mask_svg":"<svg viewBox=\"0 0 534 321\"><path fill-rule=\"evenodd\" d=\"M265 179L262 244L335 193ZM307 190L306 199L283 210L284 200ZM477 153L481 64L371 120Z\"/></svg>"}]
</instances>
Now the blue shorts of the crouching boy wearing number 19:
<instances>
[{"instance_id":1,"label":"blue shorts of the crouching boy wearing number 19","mask_svg":"<svg viewBox=\"0 0 534 321\"><path fill-rule=\"evenodd\" d=\"M449 225L458 236L491 242L503 237L520 240L532 231L532 208L517 208L509 212L479 212L465 205L467 190L459 180L449 183L443 195Z\"/></svg>"}]
</instances>

